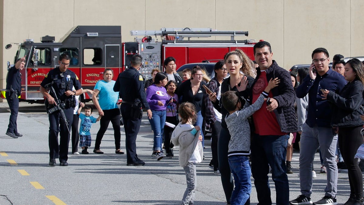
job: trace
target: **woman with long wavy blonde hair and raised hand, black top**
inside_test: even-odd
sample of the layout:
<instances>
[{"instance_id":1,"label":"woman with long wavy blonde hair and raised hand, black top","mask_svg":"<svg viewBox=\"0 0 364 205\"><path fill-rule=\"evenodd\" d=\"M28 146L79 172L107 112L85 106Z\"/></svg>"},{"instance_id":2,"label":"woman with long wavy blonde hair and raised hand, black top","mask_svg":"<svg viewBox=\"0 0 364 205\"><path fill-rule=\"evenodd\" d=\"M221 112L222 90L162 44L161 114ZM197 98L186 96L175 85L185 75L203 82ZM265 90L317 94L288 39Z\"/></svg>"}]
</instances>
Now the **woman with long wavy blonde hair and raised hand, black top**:
<instances>
[{"instance_id":1,"label":"woman with long wavy blonde hair and raised hand, black top","mask_svg":"<svg viewBox=\"0 0 364 205\"><path fill-rule=\"evenodd\" d=\"M227 53L224 58L224 62L226 63L227 72L230 74L230 77L226 78L221 84L221 94L233 90L238 91L237 87L240 87L242 81L248 80L247 88L239 92L240 96L248 97L249 90L253 84L254 77L256 77L256 73L254 72L254 64L253 61L249 59L249 57L242 50L234 50L230 53ZM216 93L215 93L216 94ZM227 125L225 122L225 116L227 110L222 106L221 98L220 100L216 100L216 95L209 95L210 100L214 104L214 108L217 109L222 114L221 120L221 130L217 144L217 154L219 160L219 170L221 174L221 182L222 188L225 193L226 202L230 204L231 195L234 190L234 182L233 177L231 176L231 171L229 167L229 162L227 161L227 150L229 149L229 141L230 141L230 133L227 129ZM242 100L241 100L242 101ZM244 106L245 101L242 101L242 107ZM250 199L246 202L246 204L250 204Z\"/></svg>"}]
</instances>

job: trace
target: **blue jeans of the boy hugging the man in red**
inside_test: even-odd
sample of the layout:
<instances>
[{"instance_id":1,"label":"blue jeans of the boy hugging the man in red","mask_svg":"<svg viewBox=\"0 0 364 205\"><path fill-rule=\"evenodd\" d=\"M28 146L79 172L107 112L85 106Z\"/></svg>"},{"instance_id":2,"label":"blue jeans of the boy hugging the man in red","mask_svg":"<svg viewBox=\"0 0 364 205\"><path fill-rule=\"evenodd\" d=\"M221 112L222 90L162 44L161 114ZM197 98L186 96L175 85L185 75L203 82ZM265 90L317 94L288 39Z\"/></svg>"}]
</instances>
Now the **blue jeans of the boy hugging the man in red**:
<instances>
[{"instance_id":1,"label":"blue jeans of the boy hugging the man in red","mask_svg":"<svg viewBox=\"0 0 364 205\"><path fill-rule=\"evenodd\" d=\"M229 166L234 176L235 188L231 196L231 205L244 205L252 192L250 181L249 158L247 156L229 156Z\"/></svg>"}]
</instances>

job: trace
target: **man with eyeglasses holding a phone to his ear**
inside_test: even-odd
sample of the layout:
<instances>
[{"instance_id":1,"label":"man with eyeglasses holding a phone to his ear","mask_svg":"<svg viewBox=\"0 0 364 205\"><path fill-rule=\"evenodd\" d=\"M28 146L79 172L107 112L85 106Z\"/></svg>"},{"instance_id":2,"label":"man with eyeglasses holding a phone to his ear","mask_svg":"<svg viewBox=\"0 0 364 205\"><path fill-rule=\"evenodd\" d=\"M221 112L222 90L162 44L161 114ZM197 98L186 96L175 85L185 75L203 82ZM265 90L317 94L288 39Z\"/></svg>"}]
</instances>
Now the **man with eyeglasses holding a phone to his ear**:
<instances>
[{"instance_id":1,"label":"man with eyeglasses holding a phone to his ear","mask_svg":"<svg viewBox=\"0 0 364 205\"><path fill-rule=\"evenodd\" d=\"M320 147L324 165L327 168L327 186L325 196L314 204L336 205L337 166L335 151L337 135L333 135L330 126L332 110L326 98L321 96L322 90L339 93L347 84L336 71L329 68L329 53L324 48L312 52L312 64L309 74L298 86L296 94L303 98L308 94L308 113L306 123L302 125L300 147L300 184L301 195L290 201L291 204L312 204L312 162L317 148Z\"/></svg>"}]
</instances>

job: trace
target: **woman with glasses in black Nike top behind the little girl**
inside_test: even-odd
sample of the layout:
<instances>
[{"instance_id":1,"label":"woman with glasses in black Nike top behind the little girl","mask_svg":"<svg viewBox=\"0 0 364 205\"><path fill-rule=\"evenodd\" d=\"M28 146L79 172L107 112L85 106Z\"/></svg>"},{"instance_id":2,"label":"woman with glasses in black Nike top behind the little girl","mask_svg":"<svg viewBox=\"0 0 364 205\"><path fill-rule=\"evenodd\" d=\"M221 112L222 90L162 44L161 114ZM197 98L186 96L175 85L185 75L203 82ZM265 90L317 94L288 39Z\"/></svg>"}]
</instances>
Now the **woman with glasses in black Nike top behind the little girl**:
<instances>
[{"instance_id":1,"label":"woman with glasses in black Nike top behind the little girl","mask_svg":"<svg viewBox=\"0 0 364 205\"><path fill-rule=\"evenodd\" d=\"M197 121L194 124L202 128L203 117L201 115L201 108L203 103L203 88L202 85L207 85L206 82L202 81L203 73L202 69L198 66L193 67L191 72L191 79L186 80L179 86L177 94L182 102L191 102L196 107ZM202 147L204 147L204 136L202 135Z\"/></svg>"}]
</instances>

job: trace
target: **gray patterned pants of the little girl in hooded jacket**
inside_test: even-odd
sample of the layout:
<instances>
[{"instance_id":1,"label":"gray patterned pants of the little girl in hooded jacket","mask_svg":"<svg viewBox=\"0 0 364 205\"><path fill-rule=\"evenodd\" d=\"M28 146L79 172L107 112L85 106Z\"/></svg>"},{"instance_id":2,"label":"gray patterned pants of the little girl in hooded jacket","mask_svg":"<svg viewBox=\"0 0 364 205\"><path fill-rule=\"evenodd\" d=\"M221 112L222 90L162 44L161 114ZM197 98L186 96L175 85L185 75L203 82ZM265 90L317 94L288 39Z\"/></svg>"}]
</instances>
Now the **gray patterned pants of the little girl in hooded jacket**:
<instances>
[{"instance_id":1,"label":"gray patterned pants of the little girl in hooded jacket","mask_svg":"<svg viewBox=\"0 0 364 205\"><path fill-rule=\"evenodd\" d=\"M186 173L187 188L185 194L183 194L182 205L193 204L195 198L196 189L196 164L187 162L187 165L183 167Z\"/></svg>"}]
</instances>

